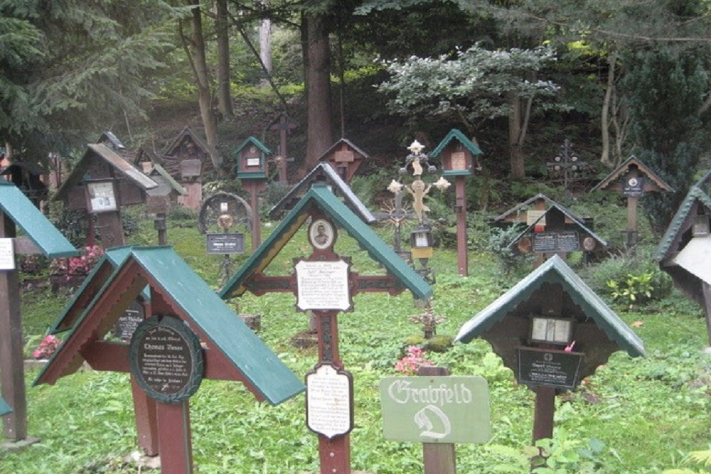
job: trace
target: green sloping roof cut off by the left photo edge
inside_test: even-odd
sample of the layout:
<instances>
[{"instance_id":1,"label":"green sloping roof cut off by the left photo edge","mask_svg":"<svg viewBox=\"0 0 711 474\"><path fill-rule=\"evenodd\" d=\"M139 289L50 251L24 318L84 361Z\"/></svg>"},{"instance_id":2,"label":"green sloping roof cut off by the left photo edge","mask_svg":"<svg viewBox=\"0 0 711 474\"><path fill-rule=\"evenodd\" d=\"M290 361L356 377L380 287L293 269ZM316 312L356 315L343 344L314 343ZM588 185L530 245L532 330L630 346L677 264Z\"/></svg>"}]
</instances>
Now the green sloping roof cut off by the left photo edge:
<instances>
[{"instance_id":1,"label":"green sloping roof cut off by the left photo edge","mask_svg":"<svg viewBox=\"0 0 711 474\"><path fill-rule=\"evenodd\" d=\"M29 237L45 257L73 257L77 249L14 184L0 180L0 210Z\"/></svg>"}]
</instances>

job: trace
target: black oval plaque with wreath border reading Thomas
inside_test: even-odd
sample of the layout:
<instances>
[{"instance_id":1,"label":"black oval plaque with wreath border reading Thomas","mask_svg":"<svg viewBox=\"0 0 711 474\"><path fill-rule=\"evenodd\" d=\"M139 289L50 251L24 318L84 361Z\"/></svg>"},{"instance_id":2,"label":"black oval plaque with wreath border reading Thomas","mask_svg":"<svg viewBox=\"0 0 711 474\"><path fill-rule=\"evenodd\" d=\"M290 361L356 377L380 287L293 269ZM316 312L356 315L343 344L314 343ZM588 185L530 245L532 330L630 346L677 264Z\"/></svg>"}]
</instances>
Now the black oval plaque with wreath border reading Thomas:
<instances>
[{"instance_id":1,"label":"black oval plaque with wreath border reading Thomas","mask_svg":"<svg viewBox=\"0 0 711 474\"><path fill-rule=\"evenodd\" d=\"M151 316L131 338L131 373L139 387L163 403L183 402L203 380L200 339L174 316Z\"/></svg>"}]
</instances>

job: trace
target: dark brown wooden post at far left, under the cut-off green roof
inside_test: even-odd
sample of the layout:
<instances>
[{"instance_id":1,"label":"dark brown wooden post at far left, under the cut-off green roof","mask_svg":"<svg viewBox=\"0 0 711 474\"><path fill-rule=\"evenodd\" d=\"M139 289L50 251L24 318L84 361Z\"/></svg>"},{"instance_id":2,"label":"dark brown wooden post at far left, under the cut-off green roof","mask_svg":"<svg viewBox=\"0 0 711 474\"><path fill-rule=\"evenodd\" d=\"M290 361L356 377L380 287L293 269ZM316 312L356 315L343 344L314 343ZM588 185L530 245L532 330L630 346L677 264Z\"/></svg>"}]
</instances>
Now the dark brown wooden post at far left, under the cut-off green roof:
<instances>
[{"instance_id":1,"label":"dark brown wooden post at far left, under the cut-off green roof","mask_svg":"<svg viewBox=\"0 0 711 474\"><path fill-rule=\"evenodd\" d=\"M4 212L0 212L0 237L16 237L15 223ZM27 400L16 269L0 271L0 383L2 397L13 409L3 416L4 435L11 441L21 441L27 437Z\"/></svg>"}]
</instances>

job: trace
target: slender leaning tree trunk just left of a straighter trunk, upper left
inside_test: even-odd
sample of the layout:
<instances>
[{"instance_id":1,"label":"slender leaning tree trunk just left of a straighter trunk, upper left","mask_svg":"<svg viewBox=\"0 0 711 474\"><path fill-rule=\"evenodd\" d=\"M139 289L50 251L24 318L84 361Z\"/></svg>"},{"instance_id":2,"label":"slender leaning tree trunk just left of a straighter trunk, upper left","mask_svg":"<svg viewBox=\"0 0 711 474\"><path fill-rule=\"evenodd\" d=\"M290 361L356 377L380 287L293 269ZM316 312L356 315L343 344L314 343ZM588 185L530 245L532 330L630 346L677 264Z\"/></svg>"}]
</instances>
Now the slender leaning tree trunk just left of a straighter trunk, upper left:
<instances>
[{"instance_id":1,"label":"slender leaning tree trunk just left of a straighter trunk, upper left","mask_svg":"<svg viewBox=\"0 0 711 474\"><path fill-rule=\"evenodd\" d=\"M192 5L191 0L186 0L188 5ZM208 75L208 65L205 60L205 41L203 39L203 18L200 7L192 10L191 17L191 42L193 51L189 55L198 86L198 104L200 105L200 115L205 127L205 139L208 145L217 144L217 120L213 112L213 100L210 94L210 78ZM215 163L217 165L218 163Z\"/></svg>"}]
</instances>

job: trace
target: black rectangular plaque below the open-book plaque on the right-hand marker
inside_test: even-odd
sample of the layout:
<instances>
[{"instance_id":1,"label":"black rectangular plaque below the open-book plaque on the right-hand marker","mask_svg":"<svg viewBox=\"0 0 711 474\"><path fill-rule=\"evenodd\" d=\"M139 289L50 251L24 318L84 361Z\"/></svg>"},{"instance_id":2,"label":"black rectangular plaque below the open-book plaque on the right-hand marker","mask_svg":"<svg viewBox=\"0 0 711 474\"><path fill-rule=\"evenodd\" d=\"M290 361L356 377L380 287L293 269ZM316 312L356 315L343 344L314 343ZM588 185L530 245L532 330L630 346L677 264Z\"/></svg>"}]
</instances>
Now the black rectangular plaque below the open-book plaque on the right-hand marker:
<instances>
[{"instance_id":1,"label":"black rectangular plaque below the open-book plaque on the right-hand marker","mask_svg":"<svg viewBox=\"0 0 711 474\"><path fill-rule=\"evenodd\" d=\"M518 348L518 383L574 389L579 382L582 357L581 352Z\"/></svg>"}]
</instances>

